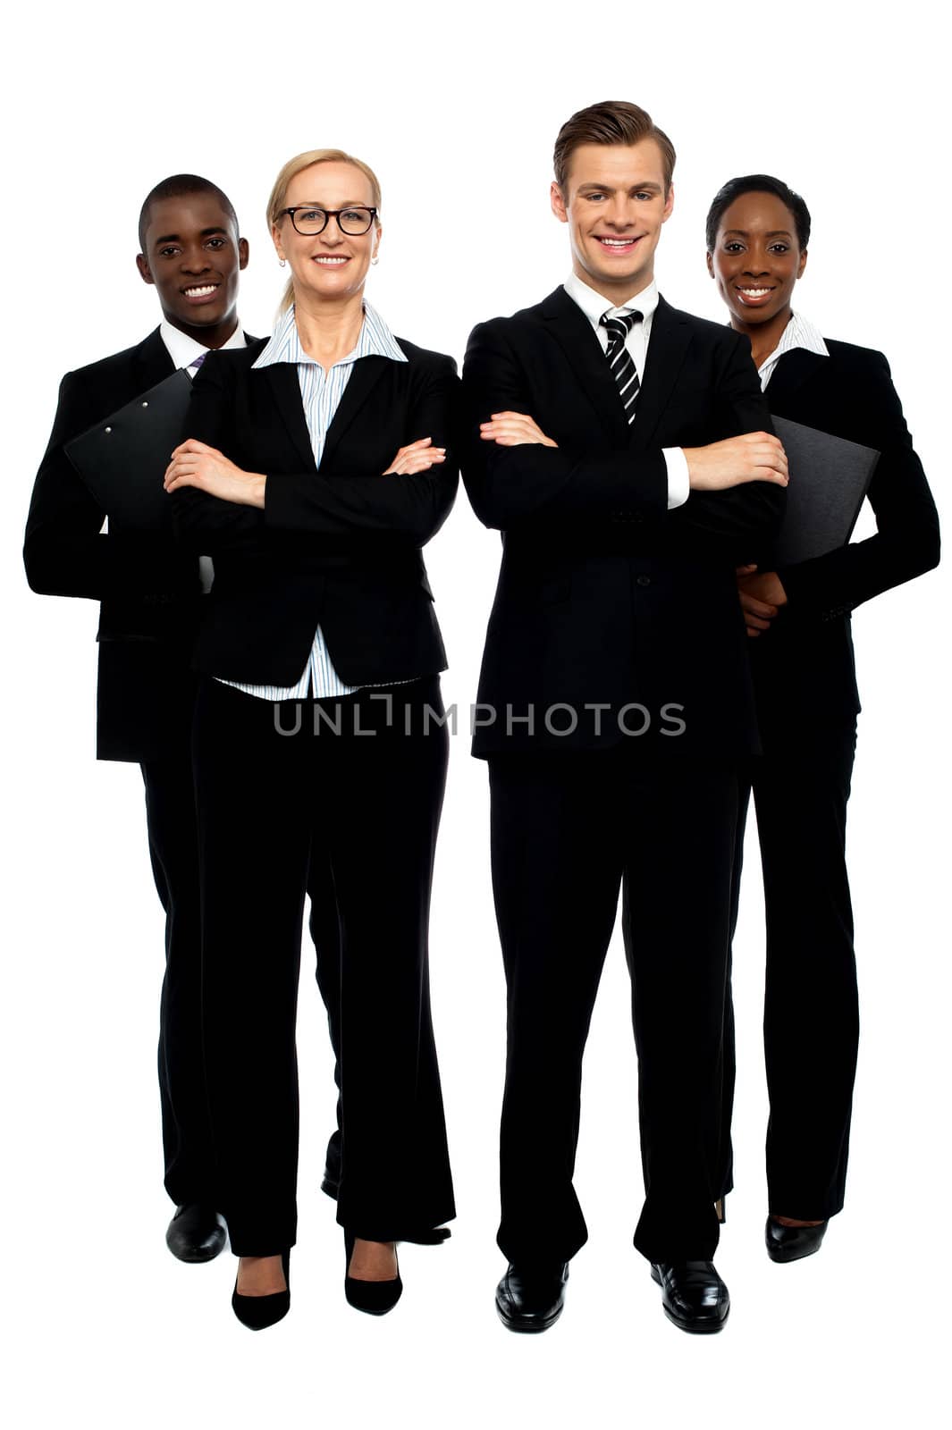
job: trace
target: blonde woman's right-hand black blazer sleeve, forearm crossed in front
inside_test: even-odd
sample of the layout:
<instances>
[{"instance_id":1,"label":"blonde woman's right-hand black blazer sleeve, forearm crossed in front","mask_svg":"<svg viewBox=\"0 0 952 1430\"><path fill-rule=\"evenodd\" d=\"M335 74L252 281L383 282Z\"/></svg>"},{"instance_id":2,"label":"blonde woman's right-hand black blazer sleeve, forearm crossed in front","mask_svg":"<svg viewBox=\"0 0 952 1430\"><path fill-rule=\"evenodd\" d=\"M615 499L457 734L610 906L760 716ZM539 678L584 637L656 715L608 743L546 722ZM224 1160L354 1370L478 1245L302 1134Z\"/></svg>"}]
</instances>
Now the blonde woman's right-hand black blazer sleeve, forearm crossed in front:
<instances>
[{"instance_id":1,"label":"blonde woman's right-hand black blazer sleeve, forearm crossed in front","mask_svg":"<svg viewBox=\"0 0 952 1430\"><path fill-rule=\"evenodd\" d=\"M446 460L415 476L353 472L332 466L267 480L264 522L277 531L347 535L392 533L423 546L440 529L456 496L459 470L453 433L459 405L456 363L446 358L420 373L403 446L432 438ZM392 458L396 453L390 455Z\"/></svg>"}]
</instances>

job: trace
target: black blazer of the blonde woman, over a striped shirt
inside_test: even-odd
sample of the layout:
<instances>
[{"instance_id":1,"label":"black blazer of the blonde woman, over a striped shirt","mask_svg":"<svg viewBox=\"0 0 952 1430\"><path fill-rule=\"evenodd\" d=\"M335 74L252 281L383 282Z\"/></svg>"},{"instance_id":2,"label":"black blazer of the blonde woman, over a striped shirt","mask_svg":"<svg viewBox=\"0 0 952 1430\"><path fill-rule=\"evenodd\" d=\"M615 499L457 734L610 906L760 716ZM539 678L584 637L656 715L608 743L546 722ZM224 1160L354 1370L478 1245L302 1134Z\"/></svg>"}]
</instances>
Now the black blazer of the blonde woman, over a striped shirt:
<instances>
[{"instance_id":1,"label":"black blazer of the blonde woman, over a striped shirt","mask_svg":"<svg viewBox=\"0 0 952 1430\"><path fill-rule=\"evenodd\" d=\"M297 369L253 370L264 342L213 353L196 378L189 435L267 475L264 509L196 488L173 493L186 546L214 559L194 665L209 675L293 685L320 623L347 685L433 675L446 655L420 548L457 485L452 358L397 339L407 362L362 358L327 432L320 472ZM397 448L430 436L446 462L383 476Z\"/></svg>"}]
</instances>

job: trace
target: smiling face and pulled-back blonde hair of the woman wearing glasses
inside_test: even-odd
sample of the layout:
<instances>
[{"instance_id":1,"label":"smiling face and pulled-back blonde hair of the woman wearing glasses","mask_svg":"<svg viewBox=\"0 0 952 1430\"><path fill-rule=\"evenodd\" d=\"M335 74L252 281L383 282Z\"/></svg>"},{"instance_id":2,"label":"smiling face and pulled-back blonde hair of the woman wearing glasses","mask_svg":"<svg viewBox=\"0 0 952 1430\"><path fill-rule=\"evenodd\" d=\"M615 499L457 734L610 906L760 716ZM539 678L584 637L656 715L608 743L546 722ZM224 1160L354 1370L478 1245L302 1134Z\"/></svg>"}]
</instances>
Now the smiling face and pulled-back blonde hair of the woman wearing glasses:
<instances>
[{"instance_id":1,"label":"smiling face and pulled-back blonde hair of the woman wearing glasses","mask_svg":"<svg viewBox=\"0 0 952 1430\"><path fill-rule=\"evenodd\" d=\"M329 160L310 164L287 184L284 207L312 204L317 209L346 209L349 204L373 209L375 194L367 176L354 164ZM380 225L366 233L342 233L336 219L327 219L322 233L312 237L297 233L284 214L272 229L274 247L287 259L294 283L294 302L302 299L340 302L363 292L370 260L380 245Z\"/></svg>"}]
</instances>

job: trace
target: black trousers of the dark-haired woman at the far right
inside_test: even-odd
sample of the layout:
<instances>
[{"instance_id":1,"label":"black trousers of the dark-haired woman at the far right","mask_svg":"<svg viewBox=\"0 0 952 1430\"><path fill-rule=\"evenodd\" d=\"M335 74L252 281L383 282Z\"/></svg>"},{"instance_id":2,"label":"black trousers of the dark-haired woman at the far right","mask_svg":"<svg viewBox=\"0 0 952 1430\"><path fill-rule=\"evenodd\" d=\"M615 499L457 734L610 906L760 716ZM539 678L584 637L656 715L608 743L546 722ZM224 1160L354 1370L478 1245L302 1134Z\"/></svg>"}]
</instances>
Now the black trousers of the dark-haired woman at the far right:
<instances>
[{"instance_id":1,"label":"black trousers of the dark-haired woman at the far right","mask_svg":"<svg viewBox=\"0 0 952 1430\"><path fill-rule=\"evenodd\" d=\"M846 802L855 718L796 735L763 722L763 755L740 789L730 935L738 919L743 827L753 789L763 869L763 1055L770 1115L768 1210L820 1221L843 1207L859 1001L846 875ZM723 1127L735 1083L733 1012L725 1035ZM729 1181L730 1147L722 1153ZM726 1187L723 1188L726 1190Z\"/></svg>"}]
</instances>

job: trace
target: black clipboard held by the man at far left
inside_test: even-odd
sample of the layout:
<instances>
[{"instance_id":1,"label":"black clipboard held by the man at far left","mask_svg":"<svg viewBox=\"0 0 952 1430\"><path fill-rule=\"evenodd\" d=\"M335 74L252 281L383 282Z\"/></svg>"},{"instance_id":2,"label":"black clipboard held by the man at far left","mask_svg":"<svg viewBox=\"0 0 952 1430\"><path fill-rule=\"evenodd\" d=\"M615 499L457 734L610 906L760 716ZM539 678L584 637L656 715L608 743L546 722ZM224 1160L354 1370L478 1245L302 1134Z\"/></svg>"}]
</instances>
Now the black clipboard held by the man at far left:
<instances>
[{"instance_id":1,"label":"black clipboard held by the man at far left","mask_svg":"<svg viewBox=\"0 0 952 1430\"><path fill-rule=\"evenodd\" d=\"M159 531L172 521L162 485L173 448L187 436L192 378L164 382L66 443L66 455L114 531Z\"/></svg>"}]
</instances>

